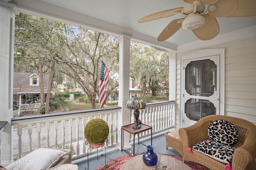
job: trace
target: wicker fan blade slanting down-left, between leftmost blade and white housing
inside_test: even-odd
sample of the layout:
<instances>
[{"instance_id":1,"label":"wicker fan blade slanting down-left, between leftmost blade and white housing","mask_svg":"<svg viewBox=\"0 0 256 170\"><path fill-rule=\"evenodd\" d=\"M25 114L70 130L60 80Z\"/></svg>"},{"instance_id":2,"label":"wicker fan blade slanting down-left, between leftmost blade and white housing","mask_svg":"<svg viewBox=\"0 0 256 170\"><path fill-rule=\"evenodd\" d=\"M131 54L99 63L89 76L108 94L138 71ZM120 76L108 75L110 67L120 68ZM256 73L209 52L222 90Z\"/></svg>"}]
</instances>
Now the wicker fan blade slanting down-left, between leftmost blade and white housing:
<instances>
[{"instance_id":1,"label":"wicker fan blade slanting down-left, between leftmost blade and white housing","mask_svg":"<svg viewBox=\"0 0 256 170\"><path fill-rule=\"evenodd\" d=\"M164 29L163 31L158 35L157 41L165 41L166 39L170 38L174 33L176 33L181 27L182 22L178 23L180 19L172 20Z\"/></svg>"}]
</instances>

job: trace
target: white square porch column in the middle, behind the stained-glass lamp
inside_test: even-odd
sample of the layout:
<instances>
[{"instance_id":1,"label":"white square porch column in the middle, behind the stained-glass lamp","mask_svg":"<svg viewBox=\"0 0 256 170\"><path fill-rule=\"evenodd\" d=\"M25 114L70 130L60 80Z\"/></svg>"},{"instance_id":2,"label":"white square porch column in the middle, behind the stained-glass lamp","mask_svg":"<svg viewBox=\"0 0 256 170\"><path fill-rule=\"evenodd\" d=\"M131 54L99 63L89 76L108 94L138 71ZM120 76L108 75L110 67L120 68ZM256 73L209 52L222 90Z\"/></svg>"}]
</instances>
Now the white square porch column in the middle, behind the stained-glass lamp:
<instances>
[{"instance_id":1,"label":"white square porch column in the middle, behind the stained-glass lamp","mask_svg":"<svg viewBox=\"0 0 256 170\"><path fill-rule=\"evenodd\" d=\"M118 106L122 107L121 113L118 115L118 129L121 126L130 124L130 111L126 108L126 102L129 98L129 82L130 82L130 37L121 35L119 38L119 99ZM121 133L121 131L120 131ZM118 143L121 142L121 134ZM130 147L129 133L124 131L123 146Z\"/></svg>"}]
</instances>

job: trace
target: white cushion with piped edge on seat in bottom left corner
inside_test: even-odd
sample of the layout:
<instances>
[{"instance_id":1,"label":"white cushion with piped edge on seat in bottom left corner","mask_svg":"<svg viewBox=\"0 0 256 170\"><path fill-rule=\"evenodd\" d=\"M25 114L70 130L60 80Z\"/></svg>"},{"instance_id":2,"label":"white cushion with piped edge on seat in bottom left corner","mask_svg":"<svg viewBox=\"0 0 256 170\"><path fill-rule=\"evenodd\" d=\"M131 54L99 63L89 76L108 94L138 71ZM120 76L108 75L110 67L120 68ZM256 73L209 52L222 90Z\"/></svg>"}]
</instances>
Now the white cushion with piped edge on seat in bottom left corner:
<instances>
[{"instance_id":1,"label":"white cushion with piped edge on seat in bottom left corner","mask_svg":"<svg viewBox=\"0 0 256 170\"><path fill-rule=\"evenodd\" d=\"M8 170L46 170L54 166L66 152L38 148L6 167Z\"/></svg>"}]
</instances>

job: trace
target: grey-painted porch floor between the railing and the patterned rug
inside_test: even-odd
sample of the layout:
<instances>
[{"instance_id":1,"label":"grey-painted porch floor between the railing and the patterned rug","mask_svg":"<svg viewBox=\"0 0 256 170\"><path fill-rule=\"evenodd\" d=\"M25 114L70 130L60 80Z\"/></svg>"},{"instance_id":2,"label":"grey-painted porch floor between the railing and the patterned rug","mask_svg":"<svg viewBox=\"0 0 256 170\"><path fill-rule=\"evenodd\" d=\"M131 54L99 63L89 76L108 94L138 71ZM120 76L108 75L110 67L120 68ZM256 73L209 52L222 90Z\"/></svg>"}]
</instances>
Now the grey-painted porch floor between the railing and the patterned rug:
<instances>
[{"instance_id":1,"label":"grey-painted porch floor between the railing and the patterned rug","mask_svg":"<svg viewBox=\"0 0 256 170\"><path fill-rule=\"evenodd\" d=\"M166 140L165 140L165 136L164 133L166 133L168 131L164 131L161 133L158 133L156 135L152 136L152 145L154 146L154 152L155 153L161 153L161 154L172 154L172 155L177 155L177 156L181 156L176 150L168 147L168 149L166 149ZM144 145L150 145L150 138L151 137L146 137L144 139L140 139L140 143L143 143ZM130 145L133 145L133 142L130 143ZM138 145L138 139L135 139L135 153L136 154L142 154L146 151L146 147L139 144ZM130 150L133 152L133 148L128 149L128 151L130 152ZM103 155L102 155L103 154ZM93 154L89 156L89 170L95 170L96 168L98 168L100 165L105 163L105 150L98 150L98 160L97 160L97 154ZM128 155L126 152L122 151L120 149L118 149L118 147L112 148L112 149L106 149L106 162L113 160L115 158L121 157L121 156L125 156ZM72 164L77 164L79 167L79 170L88 170L88 161L87 161L87 156L80 158L78 160L74 160L72 161Z\"/></svg>"}]
</instances>

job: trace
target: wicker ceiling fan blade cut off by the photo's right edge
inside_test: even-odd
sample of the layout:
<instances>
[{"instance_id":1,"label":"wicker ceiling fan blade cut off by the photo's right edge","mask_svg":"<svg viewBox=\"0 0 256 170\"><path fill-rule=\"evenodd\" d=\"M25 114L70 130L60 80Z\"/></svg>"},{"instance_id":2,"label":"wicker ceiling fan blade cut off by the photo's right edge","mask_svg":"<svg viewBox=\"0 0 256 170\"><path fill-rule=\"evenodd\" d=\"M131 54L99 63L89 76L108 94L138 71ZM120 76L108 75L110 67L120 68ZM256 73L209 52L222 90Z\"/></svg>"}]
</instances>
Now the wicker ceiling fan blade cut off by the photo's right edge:
<instances>
[{"instance_id":1,"label":"wicker ceiling fan blade cut off by the photo's right edge","mask_svg":"<svg viewBox=\"0 0 256 170\"><path fill-rule=\"evenodd\" d=\"M216 11L209 11L212 17L256 16L256 0L219 0Z\"/></svg>"}]
</instances>

